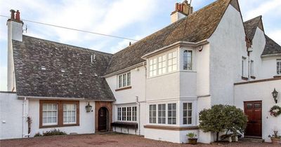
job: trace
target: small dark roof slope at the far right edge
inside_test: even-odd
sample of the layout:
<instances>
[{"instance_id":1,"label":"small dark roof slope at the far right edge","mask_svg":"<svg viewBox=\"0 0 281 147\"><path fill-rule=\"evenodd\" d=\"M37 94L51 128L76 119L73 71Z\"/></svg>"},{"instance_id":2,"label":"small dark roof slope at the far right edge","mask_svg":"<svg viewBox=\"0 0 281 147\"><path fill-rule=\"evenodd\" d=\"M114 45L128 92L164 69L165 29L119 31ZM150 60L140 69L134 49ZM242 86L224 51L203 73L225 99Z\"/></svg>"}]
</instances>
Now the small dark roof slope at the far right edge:
<instances>
[{"instance_id":1,"label":"small dark roof slope at the far right edge","mask_svg":"<svg viewBox=\"0 0 281 147\"><path fill-rule=\"evenodd\" d=\"M266 35L266 47L262 55L281 54L281 46Z\"/></svg>"}]
</instances>

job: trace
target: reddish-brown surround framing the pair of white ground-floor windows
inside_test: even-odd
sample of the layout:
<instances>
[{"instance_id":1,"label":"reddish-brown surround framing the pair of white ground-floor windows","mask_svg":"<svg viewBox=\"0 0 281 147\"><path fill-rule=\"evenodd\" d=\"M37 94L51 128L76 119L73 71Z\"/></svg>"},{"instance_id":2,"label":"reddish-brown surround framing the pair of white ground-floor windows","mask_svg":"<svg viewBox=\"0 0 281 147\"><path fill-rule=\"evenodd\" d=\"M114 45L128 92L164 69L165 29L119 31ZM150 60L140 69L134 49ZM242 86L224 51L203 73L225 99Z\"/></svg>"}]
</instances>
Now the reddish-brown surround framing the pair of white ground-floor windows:
<instances>
[{"instance_id":1,"label":"reddish-brown surround framing the pair of white ground-floor windows","mask_svg":"<svg viewBox=\"0 0 281 147\"><path fill-rule=\"evenodd\" d=\"M43 104L57 104L58 108L58 125L43 125ZM76 110L76 124L63 124L63 104L77 104ZM79 126L79 101L65 101L65 100L40 100L39 101L39 128L50 127L71 127Z\"/></svg>"}]
</instances>

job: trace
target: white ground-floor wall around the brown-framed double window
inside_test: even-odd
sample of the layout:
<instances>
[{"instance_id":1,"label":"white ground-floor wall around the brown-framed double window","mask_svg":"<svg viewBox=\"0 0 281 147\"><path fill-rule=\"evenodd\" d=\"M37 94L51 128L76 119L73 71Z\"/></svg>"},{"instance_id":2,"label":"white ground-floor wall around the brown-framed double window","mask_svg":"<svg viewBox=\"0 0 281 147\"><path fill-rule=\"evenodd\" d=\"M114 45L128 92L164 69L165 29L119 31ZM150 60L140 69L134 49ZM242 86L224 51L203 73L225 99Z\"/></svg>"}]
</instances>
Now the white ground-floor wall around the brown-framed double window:
<instances>
[{"instance_id":1,"label":"white ground-floor wall around the brown-framed double window","mask_svg":"<svg viewBox=\"0 0 281 147\"><path fill-rule=\"evenodd\" d=\"M91 134L95 133L95 102L90 102L90 105L93 106L93 112L86 112L85 106L88 104L88 101L79 101L79 126L72 127L52 127L39 129L39 100L30 99L29 100L29 114L32 118L32 127L31 127L31 136L37 132L46 132L49 130L59 129L67 134L78 133L78 134Z\"/></svg>"}]
</instances>

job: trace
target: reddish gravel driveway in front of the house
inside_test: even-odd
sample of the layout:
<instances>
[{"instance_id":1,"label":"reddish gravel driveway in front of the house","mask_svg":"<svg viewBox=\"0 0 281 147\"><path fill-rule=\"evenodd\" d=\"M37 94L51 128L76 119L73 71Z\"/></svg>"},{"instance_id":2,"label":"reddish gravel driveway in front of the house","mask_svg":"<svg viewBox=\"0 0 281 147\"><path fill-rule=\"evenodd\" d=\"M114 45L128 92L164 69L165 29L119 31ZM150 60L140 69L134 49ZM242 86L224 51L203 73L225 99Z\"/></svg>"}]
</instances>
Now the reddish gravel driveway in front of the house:
<instances>
[{"instance_id":1,"label":"reddish gravel driveway in front of the house","mask_svg":"<svg viewBox=\"0 0 281 147\"><path fill-rule=\"evenodd\" d=\"M151 139L145 139L144 137L138 137L136 135L129 134L85 134L85 135L68 135L68 136L55 136L55 137L35 137L30 139L9 139L1 140L1 147L6 146L192 146L188 144L173 144L165 141L155 141ZM213 147L213 146L241 146L241 147L266 147L273 146L268 143L250 143L250 142L238 142L232 144L221 145L209 145L198 144L192 147Z\"/></svg>"}]
</instances>

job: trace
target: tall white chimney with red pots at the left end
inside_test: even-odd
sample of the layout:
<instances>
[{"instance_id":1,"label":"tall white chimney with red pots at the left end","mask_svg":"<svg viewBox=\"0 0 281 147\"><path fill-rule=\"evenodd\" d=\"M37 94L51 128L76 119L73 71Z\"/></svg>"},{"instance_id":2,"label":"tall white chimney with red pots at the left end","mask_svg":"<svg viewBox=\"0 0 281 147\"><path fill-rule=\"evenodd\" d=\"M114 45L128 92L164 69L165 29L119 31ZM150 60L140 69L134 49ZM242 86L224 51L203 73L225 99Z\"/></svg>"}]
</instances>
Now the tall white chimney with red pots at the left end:
<instances>
[{"instance_id":1,"label":"tall white chimney with red pots at the left end","mask_svg":"<svg viewBox=\"0 0 281 147\"><path fill-rule=\"evenodd\" d=\"M22 26L20 20L20 11L10 10L11 18L7 21L8 26L8 75L7 75L7 90L15 92L15 68L13 64L13 44L14 41L22 41Z\"/></svg>"}]
</instances>

